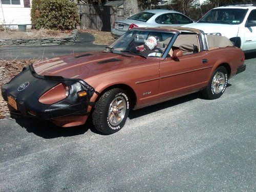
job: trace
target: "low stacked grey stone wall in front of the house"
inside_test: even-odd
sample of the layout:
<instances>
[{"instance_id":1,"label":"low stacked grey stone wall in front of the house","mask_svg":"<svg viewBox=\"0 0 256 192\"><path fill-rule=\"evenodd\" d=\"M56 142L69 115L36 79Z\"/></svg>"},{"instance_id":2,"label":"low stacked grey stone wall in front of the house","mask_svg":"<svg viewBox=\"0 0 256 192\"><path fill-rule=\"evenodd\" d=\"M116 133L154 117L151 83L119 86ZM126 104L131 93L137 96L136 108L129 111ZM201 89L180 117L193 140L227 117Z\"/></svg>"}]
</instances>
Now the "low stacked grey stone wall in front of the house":
<instances>
[{"instance_id":1,"label":"low stacked grey stone wall in front of the house","mask_svg":"<svg viewBox=\"0 0 256 192\"><path fill-rule=\"evenodd\" d=\"M78 37L78 30L73 30L69 36L62 38L37 38L37 39L0 39L0 46L52 46L71 45Z\"/></svg>"}]
</instances>

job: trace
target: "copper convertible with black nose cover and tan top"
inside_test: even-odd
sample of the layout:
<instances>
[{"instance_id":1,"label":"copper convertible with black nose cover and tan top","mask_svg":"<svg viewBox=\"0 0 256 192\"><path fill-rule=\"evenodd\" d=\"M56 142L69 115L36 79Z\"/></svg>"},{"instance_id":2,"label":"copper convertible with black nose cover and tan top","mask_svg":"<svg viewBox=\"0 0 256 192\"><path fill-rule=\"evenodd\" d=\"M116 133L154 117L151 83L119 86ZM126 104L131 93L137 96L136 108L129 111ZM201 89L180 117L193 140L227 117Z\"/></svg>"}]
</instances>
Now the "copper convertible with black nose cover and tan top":
<instances>
[{"instance_id":1,"label":"copper convertible with black nose cover and tan top","mask_svg":"<svg viewBox=\"0 0 256 192\"><path fill-rule=\"evenodd\" d=\"M98 131L112 134L130 109L199 91L219 98L228 79L245 70L244 59L223 36L182 27L133 28L104 51L25 67L2 94L24 116L69 127L92 115Z\"/></svg>"}]
</instances>

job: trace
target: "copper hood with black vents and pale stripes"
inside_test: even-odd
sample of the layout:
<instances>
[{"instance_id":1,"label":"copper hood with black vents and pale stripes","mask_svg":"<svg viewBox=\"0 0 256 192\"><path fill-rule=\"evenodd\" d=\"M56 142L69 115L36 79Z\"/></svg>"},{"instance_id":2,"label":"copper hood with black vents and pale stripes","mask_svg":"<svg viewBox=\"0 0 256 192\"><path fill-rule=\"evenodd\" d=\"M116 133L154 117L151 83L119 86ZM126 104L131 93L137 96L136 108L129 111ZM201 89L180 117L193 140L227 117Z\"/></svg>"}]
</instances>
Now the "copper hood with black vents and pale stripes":
<instances>
[{"instance_id":1,"label":"copper hood with black vents and pale stripes","mask_svg":"<svg viewBox=\"0 0 256 192\"><path fill-rule=\"evenodd\" d=\"M115 54L100 51L62 56L37 62L33 64L33 68L41 76L62 76L65 78L86 80L92 76L131 68L146 63L146 61L148 59L130 54Z\"/></svg>"}]
</instances>

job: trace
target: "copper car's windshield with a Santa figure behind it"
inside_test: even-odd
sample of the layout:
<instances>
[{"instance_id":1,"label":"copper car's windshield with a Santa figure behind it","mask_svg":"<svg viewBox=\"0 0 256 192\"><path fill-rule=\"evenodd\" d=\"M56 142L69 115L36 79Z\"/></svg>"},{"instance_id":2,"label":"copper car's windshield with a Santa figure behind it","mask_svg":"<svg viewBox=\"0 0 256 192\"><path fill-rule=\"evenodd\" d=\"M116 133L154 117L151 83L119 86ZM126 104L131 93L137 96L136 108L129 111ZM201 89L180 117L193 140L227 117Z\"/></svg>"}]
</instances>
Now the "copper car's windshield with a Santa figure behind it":
<instances>
[{"instance_id":1,"label":"copper car's windshield with a Santa figure behind it","mask_svg":"<svg viewBox=\"0 0 256 192\"><path fill-rule=\"evenodd\" d=\"M172 32L129 30L107 49L142 57L162 57L174 35Z\"/></svg>"}]
</instances>

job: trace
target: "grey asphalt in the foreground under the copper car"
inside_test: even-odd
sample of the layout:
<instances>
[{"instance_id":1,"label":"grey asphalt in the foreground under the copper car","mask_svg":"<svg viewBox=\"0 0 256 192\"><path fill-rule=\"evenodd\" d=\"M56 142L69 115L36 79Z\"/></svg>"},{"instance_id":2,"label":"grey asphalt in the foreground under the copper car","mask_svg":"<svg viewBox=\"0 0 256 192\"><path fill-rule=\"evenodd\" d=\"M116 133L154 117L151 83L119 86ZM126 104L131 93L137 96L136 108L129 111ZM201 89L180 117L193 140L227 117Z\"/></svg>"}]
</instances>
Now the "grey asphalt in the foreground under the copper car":
<instances>
[{"instance_id":1,"label":"grey asphalt in the foreground under the copper car","mask_svg":"<svg viewBox=\"0 0 256 192\"><path fill-rule=\"evenodd\" d=\"M109 136L91 123L1 120L0 190L255 191L255 62L220 99L141 109Z\"/></svg>"}]
</instances>

